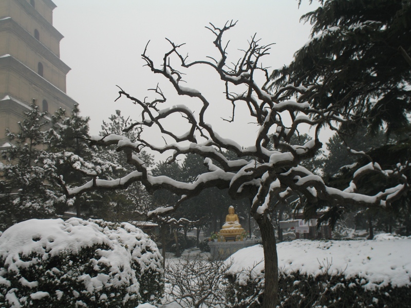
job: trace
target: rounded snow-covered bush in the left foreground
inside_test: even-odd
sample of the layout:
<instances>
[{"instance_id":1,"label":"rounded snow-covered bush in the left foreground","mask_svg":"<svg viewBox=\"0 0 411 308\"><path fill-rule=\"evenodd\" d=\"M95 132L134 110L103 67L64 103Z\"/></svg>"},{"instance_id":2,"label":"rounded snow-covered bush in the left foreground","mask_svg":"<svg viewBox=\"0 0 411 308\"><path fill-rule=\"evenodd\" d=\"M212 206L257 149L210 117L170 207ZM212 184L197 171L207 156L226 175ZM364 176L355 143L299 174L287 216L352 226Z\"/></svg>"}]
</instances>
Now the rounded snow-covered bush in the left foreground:
<instances>
[{"instance_id":1,"label":"rounded snow-covered bush in the left foreground","mask_svg":"<svg viewBox=\"0 0 411 308\"><path fill-rule=\"evenodd\" d=\"M0 237L0 306L136 307L161 297L161 262L128 223L27 220Z\"/></svg>"}]
</instances>

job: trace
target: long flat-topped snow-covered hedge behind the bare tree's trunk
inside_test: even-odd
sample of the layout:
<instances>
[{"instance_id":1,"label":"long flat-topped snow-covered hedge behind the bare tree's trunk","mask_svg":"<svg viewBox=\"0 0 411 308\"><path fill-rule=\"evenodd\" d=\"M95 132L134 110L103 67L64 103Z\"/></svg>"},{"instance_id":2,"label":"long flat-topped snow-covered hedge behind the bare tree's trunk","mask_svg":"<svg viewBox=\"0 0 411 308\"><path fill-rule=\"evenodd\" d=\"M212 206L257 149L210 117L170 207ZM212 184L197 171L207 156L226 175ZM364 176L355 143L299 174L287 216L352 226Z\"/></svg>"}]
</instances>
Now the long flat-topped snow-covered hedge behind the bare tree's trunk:
<instances>
[{"instance_id":1,"label":"long flat-topped snow-covered hedge behind the bare tree's trunk","mask_svg":"<svg viewBox=\"0 0 411 308\"><path fill-rule=\"evenodd\" d=\"M278 296L283 308L408 307L411 237L277 244ZM232 255L227 298L235 307L260 307L264 254L260 245Z\"/></svg>"}]
</instances>

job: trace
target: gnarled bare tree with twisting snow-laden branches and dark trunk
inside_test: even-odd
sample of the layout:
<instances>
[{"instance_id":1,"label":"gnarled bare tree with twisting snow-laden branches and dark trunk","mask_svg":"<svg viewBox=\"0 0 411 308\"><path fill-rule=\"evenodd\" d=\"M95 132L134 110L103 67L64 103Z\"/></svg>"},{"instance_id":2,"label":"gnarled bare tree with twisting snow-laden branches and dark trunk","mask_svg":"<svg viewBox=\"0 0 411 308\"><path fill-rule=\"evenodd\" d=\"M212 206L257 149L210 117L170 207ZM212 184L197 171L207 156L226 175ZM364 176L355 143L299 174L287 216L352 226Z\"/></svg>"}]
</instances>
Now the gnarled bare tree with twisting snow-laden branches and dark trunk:
<instances>
[{"instance_id":1,"label":"gnarled bare tree with twisting snow-laden branches and dark trunk","mask_svg":"<svg viewBox=\"0 0 411 308\"><path fill-rule=\"evenodd\" d=\"M370 162L354 174L352 182L345 190L328 187L319 175L301 166L302 161L313 157L322 147L319 140L320 129L350 121L351 114L339 113L331 104L323 109L312 108L310 102L318 94L319 83L300 87L289 85L278 89L276 93L270 93L268 70L260 64L261 57L268 54L270 45L259 45L255 36L248 42L247 48L242 50L240 59L234 64L229 62L227 44L223 43L222 36L234 25L235 23L231 22L222 28L213 25L208 27L215 35L214 45L218 50L218 59L210 57L205 61L189 62L180 53L182 45L169 41L171 49L164 54L163 62L157 66L147 55L146 47L142 54L146 65L153 73L164 76L179 95L192 98L193 102L200 102L199 111L193 112L187 105L169 103L159 87L154 89L157 96L151 101L135 98L120 90L120 97L127 97L139 108L136 114L141 114L141 119L126 128L126 131L138 131L137 140L130 141L125 137L110 134L95 137L92 142L103 146L117 145L117 150L126 154L127 162L134 165L135 171L113 181L96 177L81 187L69 188L67 191L69 196L74 196L89 189L121 189L132 182L140 181L149 192L167 189L181 197L172 206L153 210L147 213L148 216L170 213L185 200L210 187L227 189L232 199L252 200L250 211L259 225L264 246L266 279L263 306L272 307L277 299L278 268L274 228L269 218L270 206L273 204L270 199L286 200L287 196L296 192L310 202L321 199L367 207L389 206L390 202L408 189L403 171L409 164L398 165L393 170L382 170L378 164ZM213 102L200 91L183 86L183 73L195 66L212 68L225 83L225 98L232 106L231 122L234 121L236 108L241 104L247 107L250 117L259 125L252 146L244 148L232 140L222 138L210 124L210 118L219 117L215 112L208 112ZM259 84L258 80L261 78L264 80ZM290 97L290 91L294 94L293 97ZM184 134L175 132L175 127L166 128L163 125L164 119L176 115L180 117L181 123L188 125ZM178 126L181 126L181 123ZM302 146L291 145L291 137L298 134L304 125L313 128L313 139ZM154 145L150 139L144 137L144 129L151 126L156 126L161 134L171 138L173 143ZM154 177L138 155L142 148L147 147L160 153L172 150L170 161L174 161L179 155L196 153L204 158L208 171L199 174L192 183L164 176ZM227 151L234 152L237 158L228 159L225 155ZM382 189L375 196L356 193L358 180L369 172L395 178L398 185Z\"/></svg>"}]
</instances>

